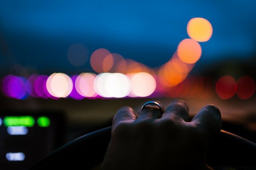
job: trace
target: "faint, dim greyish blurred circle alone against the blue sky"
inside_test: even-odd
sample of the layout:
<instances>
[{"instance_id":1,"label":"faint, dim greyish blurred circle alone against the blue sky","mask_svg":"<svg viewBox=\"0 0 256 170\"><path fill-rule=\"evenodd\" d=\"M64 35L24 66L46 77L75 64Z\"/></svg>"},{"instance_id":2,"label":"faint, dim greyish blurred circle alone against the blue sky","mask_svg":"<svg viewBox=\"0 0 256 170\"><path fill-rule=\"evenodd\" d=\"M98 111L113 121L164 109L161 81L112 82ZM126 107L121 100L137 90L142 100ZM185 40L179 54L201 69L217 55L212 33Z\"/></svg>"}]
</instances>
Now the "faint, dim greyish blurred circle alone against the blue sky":
<instances>
[{"instance_id":1,"label":"faint, dim greyish blurred circle alone against the blue sky","mask_svg":"<svg viewBox=\"0 0 256 170\"><path fill-rule=\"evenodd\" d=\"M79 67L87 62L89 58L89 51L84 44L77 42L71 45L68 49L67 58L72 65Z\"/></svg>"}]
</instances>

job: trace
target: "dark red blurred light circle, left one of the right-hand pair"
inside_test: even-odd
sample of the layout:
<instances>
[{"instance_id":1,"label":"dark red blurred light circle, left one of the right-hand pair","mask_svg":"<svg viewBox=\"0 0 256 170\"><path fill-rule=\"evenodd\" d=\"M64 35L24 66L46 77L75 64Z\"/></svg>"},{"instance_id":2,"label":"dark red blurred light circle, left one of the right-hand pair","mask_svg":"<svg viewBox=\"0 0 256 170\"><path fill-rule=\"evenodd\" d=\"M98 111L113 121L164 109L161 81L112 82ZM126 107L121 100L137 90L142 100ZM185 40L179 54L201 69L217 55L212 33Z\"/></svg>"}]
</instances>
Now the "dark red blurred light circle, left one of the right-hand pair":
<instances>
[{"instance_id":1,"label":"dark red blurred light circle, left one of the right-hand pair","mask_svg":"<svg viewBox=\"0 0 256 170\"><path fill-rule=\"evenodd\" d=\"M236 90L236 80L230 75L219 78L215 85L215 91L221 99L230 99L236 94Z\"/></svg>"}]
</instances>

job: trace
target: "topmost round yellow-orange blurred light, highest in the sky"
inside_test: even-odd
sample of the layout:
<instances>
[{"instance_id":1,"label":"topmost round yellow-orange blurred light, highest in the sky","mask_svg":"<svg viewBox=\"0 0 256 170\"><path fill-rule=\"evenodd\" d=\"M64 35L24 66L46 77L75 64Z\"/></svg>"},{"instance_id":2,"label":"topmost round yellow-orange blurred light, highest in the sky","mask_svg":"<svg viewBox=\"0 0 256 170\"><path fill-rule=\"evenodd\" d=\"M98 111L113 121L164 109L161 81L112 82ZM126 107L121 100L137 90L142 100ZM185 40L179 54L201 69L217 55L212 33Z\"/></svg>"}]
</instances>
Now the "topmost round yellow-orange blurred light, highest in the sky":
<instances>
[{"instance_id":1,"label":"topmost round yellow-orange blurred light, highest in the sky","mask_svg":"<svg viewBox=\"0 0 256 170\"><path fill-rule=\"evenodd\" d=\"M212 37L212 25L204 18L192 18L187 25L187 32L193 40L205 42Z\"/></svg>"}]
</instances>

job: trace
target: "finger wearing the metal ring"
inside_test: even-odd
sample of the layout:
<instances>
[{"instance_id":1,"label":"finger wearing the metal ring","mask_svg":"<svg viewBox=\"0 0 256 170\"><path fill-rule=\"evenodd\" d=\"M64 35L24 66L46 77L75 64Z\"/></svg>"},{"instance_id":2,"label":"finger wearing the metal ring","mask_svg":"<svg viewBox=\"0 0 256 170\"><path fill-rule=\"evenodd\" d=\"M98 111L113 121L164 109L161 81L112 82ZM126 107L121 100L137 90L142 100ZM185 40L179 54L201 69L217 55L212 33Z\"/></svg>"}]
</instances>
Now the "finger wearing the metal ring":
<instances>
[{"instance_id":1,"label":"finger wearing the metal ring","mask_svg":"<svg viewBox=\"0 0 256 170\"><path fill-rule=\"evenodd\" d=\"M162 105L160 102L157 102L160 105ZM144 108L142 109L142 111L140 112L140 116L138 117L138 119L136 121L140 121L140 120L145 120L145 119L158 119L160 118L162 115L162 111L161 108L154 104L154 103L150 103L144 106Z\"/></svg>"}]
</instances>

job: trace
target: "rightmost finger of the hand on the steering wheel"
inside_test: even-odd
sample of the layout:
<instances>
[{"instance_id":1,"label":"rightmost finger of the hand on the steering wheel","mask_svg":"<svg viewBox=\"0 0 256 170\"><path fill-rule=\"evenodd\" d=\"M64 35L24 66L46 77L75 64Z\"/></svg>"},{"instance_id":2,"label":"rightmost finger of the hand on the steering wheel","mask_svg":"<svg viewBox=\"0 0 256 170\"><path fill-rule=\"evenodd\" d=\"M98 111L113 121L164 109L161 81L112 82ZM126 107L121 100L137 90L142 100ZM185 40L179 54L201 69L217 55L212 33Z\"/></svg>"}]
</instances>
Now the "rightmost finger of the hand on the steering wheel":
<instances>
[{"instance_id":1,"label":"rightmost finger of the hand on the steering wheel","mask_svg":"<svg viewBox=\"0 0 256 170\"><path fill-rule=\"evenodd\" d=\"M214 105L206 105L192 119L191 123L198 125L208 133L218 133L221 130L221 112Z\"/></svg>"}]
</instances>

